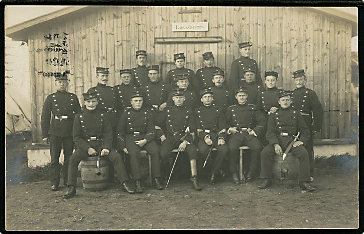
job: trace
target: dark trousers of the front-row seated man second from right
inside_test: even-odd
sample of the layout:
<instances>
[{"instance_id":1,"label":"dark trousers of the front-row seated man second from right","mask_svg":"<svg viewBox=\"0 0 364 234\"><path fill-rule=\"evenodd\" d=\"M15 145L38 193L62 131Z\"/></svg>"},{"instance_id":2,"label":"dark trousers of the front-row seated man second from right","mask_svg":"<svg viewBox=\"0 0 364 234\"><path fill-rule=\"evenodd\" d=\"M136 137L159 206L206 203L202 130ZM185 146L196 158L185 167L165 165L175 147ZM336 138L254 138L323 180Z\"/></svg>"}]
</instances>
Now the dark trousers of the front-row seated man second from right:
<instances>
[{"instance_id":1,"label":"dark trousers of the front-row seated man second from right","mask_svg":"<svg viewBox=\"0 0 364 234\"><path fill-rule=\"evenodd\" d=\"M248 140L249 136L246 133L235 133L230 135L228 140L229 148L229 169L230 172L237 171L239 147L242 145L249 146L251 148L251 158L249 164L249 174L254 174L259 169L260 151L262 150L262 144L256 137L252 137ZM243 161L249 161L249 154L244 154Z\"/></svg>"}]
</instances>

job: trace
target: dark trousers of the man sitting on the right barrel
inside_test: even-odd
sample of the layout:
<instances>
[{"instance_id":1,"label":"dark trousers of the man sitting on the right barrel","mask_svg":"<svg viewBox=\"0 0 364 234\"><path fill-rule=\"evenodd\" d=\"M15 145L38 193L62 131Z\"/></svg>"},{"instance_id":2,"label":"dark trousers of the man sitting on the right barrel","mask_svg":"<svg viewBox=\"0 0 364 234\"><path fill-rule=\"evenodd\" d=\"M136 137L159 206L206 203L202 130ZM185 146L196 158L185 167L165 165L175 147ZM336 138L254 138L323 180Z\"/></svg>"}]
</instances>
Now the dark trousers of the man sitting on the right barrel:
<instances>
[{"instance_id":1,"label":"dark trousers of the man sitting on the right barrel","mask_svg":"<svg viewBox=\"0 0 364 234\"><path fill-rule=\"evenodd\" d=\"M282 146L281 146L282 147ZM282 148L284 151L285 149ZM304 146L291 148L290 152L299 160L299 181L310 180L308 153ZM272 157L275 155L272 145L267 145L260 153L260 178L272 178Z\"/></svg>"}]
</instances>

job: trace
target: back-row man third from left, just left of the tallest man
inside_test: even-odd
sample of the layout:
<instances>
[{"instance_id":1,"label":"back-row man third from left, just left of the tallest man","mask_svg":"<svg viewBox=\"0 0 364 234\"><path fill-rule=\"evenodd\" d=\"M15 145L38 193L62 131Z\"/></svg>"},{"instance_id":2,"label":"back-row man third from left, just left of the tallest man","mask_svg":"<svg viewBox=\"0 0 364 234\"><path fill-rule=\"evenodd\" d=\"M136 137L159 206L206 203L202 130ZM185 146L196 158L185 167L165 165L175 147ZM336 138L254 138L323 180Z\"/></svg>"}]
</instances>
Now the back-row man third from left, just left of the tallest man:
<instances>
[{"instance_id":1,"label":"back-row man third from left, just left of the tallest man","mask_svg":"<svg viewBox=\"0 0 364 234\"><path fill-rule=\"evenodd\" d=\"M202 57L205 67L196 71L196 81L199 90L214 86L212 82L213 73L221 70L221 68L213 66L215 58L212 52L206 52L202 54Z\"/></svg>"}]
</instances>

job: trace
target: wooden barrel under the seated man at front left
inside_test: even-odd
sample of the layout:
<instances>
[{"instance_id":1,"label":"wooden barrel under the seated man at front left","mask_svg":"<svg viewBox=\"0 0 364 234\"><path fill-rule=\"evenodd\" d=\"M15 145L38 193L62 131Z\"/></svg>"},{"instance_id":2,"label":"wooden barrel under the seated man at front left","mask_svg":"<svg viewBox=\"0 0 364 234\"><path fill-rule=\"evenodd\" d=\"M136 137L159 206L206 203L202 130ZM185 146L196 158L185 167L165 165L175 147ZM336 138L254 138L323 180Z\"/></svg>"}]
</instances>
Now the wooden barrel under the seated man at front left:
<instances>
[{"instance_id":1,"label":"wooden barrel under the seated man at front left","mask_svg":"<svg viewBox=\"0 0 364 234\"><path fill-rule=\"evenodd\" d=\"M109 166L106 159L101 158L97 168L98 157L87 157L80 163L83 188L86 191L105 190L109 183Z\"/></svg>"}]
</instances>

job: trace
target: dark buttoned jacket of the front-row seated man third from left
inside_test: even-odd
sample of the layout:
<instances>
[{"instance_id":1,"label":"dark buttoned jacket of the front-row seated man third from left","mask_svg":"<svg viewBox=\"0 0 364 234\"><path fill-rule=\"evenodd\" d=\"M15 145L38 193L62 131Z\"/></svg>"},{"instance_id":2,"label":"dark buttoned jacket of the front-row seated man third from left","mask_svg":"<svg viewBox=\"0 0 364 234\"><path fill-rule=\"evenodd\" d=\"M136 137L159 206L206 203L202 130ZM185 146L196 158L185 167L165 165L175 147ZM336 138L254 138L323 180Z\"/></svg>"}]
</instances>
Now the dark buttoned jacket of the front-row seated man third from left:
<instances>
[{"instance_id":1,"label":"dark buttoned jacket of the front-row seated man third from left","mask_svg":"<svg viewBox=\"0 0 364 234\"><path fill-rule=\"evenodd\" d=\"M165 135L172 143L180 141L186 134L185 130L187 127L189 128L190 133L195 132L193 111L186 108L184 105L173 105L164 108L163 111L159 113L155 125L162 128L156 131L157 137L160 138L162 135ZM192 143L193 139L191 134L188 134L185 140Z\"/></svg>"}]
</instances>

